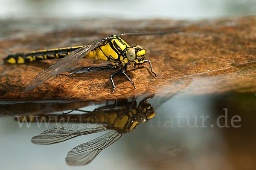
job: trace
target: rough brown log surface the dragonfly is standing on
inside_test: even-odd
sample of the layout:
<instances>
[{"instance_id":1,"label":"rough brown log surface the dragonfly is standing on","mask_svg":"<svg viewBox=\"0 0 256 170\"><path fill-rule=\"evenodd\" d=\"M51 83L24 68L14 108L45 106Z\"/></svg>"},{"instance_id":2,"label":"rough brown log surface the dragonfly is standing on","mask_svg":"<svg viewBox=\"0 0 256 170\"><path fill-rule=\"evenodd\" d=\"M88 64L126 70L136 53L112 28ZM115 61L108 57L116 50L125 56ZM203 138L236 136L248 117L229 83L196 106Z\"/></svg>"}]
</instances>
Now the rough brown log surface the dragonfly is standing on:
<instances>
[{"instance_id":1,"label":"rough brown log surface the dragonfly is standing on","mask_svg":"<svg viewBox=\"0 0 256 170\"><path fill-rule=\"evenodd\" d=\"M154 72L158 75L158 78L154 78L149 74L147 63L137 69L130 66L127 75L134 81L136 90L125 78L116 76L116 91L111 94L109 76L113 71L102 71L51 78L23 94L22 91L29 81L57 60L21 65L2 63L2 99L104 100L125 98L144 92L176 93L182 90L191 94L256 92L256 17L197 22L110 19L1 22L3 28L0 32L0 59L13 52L80 46L111 34L164 31L176 27L185 30L176 34L123 37L130 45L139 44L145 47L146 57L151 60ZM104 63L81 59L74 67Z\"/></svg>"}]
</instances>

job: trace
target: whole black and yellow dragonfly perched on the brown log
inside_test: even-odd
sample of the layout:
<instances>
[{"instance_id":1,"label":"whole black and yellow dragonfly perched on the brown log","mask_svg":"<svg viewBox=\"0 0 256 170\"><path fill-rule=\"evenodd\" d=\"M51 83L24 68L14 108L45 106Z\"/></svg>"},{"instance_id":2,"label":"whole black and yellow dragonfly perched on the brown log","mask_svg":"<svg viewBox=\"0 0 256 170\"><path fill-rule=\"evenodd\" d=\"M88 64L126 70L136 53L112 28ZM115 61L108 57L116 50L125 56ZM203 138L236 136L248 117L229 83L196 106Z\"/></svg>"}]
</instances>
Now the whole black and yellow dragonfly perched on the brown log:
<instances>
[{"instance_id":1,"label":"whole black and yellow dragonfly perched on the brown log","mask_svg":"<svg viewBox=\"0 0 256 170\"><path fill-rule=\"evenodd\" d=\"M58 49L48 49L48 50L39 50L32 51L28 53L15 53L8 55L4 60L7 63L26 63L31 61L53 59L53 58L62 58L57 63L50 66L48 69L41 71L32 81L29 82L28 86L24 92L28 92L34 89L36 86L43 84L49 78L55 75L64 75L62 72L67 71L77 63L81 58L89 59L100 59L104 61L110 61L111 64L107 66L97 66L97 67L81 67L75 72L65 75L71 76L76 74L81 70L106 70L106 69L118 69L116 72L113 72L110 75L111 83L113 86L112 92L116 88L113 77L116 75L124 75L134 86L134 82L131 78L126 75L126 69L128 65L139 66L143 63L149 63L151 68L151 73L155 77L157 75L153 72L151 62L145 59L145 49L142 46L129 46L121 36L125 35L152 35L152 34L167 34L180 32L180 30L172 30L168 32L144 32L144 33L126 33L120 35L111 35L103 38L102 40L97 40L93 43L87 44L85 46L75 46L67 48L58 48ZM136 87L134 86L136 89Z\"/></svg>"}]
</instances>

